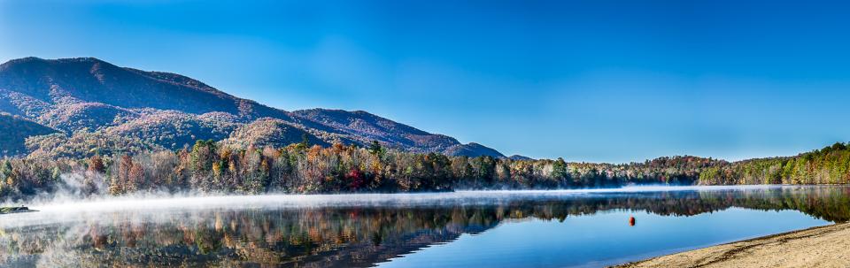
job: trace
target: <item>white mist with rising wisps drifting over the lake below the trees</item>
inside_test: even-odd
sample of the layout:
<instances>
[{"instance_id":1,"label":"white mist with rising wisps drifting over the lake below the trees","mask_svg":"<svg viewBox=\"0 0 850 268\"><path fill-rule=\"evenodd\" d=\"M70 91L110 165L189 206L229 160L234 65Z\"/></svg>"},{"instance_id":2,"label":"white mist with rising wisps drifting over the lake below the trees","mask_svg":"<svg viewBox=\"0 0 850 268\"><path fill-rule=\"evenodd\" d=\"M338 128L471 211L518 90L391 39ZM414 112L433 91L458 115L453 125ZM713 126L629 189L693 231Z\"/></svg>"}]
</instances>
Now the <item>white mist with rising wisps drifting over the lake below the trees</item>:
<instances>
[{"instance_id":1,"label":"white mist with rising wisps drifting over the lake below the trees","mask_svg":"<svg viewBox=\"0 0 850 268\"><path fill-rule=\"evenodd\" d=\"M69 185L81 185L69 183ZM565 197L626 195L676 191L766 190L782 186L633 186L624 188L591 188L563 190L462 190L439 193L404 194L336 194L336 195L215 195L209 193L170 194L139 193L134 195L94 195L80 197L76 191L63 190L58 195L40 196L27 202L27 207L42 213L73 214L103 211L162 211L205 209L287 209L319 207L413 207L466 206L495 204L507 200L552 200ZM70 194L68 194L70 193ZM6 202L14 206L21 202ZM2 223L0 223L2 225Z\"/></svg>"}]
</instances>

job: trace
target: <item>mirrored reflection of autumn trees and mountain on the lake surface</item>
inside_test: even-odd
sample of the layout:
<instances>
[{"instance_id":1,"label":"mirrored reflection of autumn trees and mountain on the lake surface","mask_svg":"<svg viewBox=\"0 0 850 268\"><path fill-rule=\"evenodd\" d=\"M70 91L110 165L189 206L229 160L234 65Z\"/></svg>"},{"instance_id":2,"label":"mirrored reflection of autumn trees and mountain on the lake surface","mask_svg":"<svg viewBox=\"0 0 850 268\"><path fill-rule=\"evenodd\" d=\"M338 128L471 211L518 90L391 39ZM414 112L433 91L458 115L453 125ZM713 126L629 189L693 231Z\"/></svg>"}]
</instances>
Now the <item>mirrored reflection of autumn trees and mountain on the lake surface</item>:
<instances>
[{"instance_id":1,"label":"mirrored reflection of autumn trees and mountain on the lake surface","mask_svg":"<svg viewBox=\"0 0 850 268\"><path fill-rule=\"evenodd\" d=\"M112 211L24 226L4 215L0 264L371 266L526 218L562 222L599 211L679 217L739 207L801 211L839 222L850 218L848 206L850 188L788 187L519 195L474 204ZM629 218L630 226L635 221Z\"/></svg>"}]
</instances>

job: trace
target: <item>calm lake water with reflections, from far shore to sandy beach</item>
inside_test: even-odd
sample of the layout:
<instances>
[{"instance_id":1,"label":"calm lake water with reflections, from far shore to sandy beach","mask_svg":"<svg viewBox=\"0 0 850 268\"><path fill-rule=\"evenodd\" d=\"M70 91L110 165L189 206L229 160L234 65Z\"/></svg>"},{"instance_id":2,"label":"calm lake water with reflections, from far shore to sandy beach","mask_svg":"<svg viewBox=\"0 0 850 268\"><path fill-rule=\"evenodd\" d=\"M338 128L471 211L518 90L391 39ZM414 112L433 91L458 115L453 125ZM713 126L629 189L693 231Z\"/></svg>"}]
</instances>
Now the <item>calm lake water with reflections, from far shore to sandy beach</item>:
<instances>
[{"instance_id":1,"label":"calm lake water with reflections, from far shore to sandy beach","mask_svg":"<svg viewBox=\"0 0 850 268\"><path fill-rule=\"evenodd\" d=\"M850 188L262 195L33 208L40 211L0 215L0 266L595 267L846 221Z\"/></svg>"}]
</instances>

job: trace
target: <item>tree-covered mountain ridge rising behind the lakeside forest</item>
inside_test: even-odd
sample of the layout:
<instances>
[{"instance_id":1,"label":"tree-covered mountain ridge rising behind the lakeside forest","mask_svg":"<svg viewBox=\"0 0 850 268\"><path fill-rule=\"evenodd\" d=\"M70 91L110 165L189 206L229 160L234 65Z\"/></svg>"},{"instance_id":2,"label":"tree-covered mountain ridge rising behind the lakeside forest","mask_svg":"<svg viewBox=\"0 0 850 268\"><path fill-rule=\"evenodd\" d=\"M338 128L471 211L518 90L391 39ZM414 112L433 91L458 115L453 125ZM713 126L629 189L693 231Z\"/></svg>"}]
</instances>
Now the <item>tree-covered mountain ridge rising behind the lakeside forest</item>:
<instances>
[{"instance_id":1,"label":"tree-covered mountain ridge rising behind the lakeside forest","mask_svg":"<svg viewBox=\"0 0 850 268\"><path fill-rule=\"evenodd\" d=\"M504 157L495 149L462 144L452 137L430 134L366 111L283 111L231 96L180 74L120 67L94 57L26 57L0 65L0 111L41 127L21 133L24 138L59 133L27 142L26 149L20 139L0 144L0 150L10 152L6 154L30 151L42 157L58 157L91 154L92 149L120 149L92 142L59 146L73 148L73 152L42 148L92 137L111 139L107 143L115 146L143 142L137 148L180 149L208 139L240 147L284 146L301 142L306 135L311 143L320 145L342 142L365 146L377 141L412 152ZM47 129L51 131L43 131Z\"/></svg>"}]
</instances>

